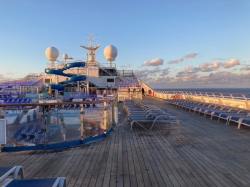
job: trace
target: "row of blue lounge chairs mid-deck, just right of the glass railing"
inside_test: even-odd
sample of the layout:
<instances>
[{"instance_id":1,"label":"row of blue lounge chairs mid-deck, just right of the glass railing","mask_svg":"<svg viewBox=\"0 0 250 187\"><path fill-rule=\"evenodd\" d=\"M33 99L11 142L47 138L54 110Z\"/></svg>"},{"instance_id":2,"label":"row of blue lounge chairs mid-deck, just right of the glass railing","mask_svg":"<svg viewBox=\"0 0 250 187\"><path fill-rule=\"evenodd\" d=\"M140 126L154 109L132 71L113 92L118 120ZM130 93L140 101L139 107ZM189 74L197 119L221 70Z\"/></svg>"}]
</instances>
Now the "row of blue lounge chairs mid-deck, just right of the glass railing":
<instances>
[{"instance_id":1,"label":"row of blue lounge chairs mid-deck, just right of the glass railing","mask_svg":"<svg viewBox=\"0 0 250 187\"><path fill-rule=\"evenodd\" d=\"M143 102L139 99L125 100L123 108L127 116L126 121L130 123L130 130L133 124L138 124L147 131L151 131L156 124L177 125L180 127L180 121L185 121L185 118L177 118L172 112L166 109L160 109L149 102ZM146 127L149 126L148 128Z\"/></svg>"}]
</instances>

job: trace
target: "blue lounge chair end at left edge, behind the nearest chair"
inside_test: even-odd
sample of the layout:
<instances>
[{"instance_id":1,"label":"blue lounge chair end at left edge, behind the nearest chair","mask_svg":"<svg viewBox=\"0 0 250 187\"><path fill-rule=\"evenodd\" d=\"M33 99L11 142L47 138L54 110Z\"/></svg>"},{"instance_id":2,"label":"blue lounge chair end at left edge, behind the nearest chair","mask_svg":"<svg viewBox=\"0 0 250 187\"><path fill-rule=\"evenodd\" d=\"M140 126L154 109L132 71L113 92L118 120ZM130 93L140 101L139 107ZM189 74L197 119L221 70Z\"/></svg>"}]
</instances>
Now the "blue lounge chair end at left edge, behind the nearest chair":
<instances>
[{"instance_id":1,"label":"blue lounge chair end at left edge, behind the nearest chair","mask_svg":"<svg viewBox=\"0 0 250 187\"><path fill-rule=\"evenodd\" d=\"M22 166L0 167L0 182L11 175L13 175L13 179L16 179L18 175L20 175L21 179L24 179L23 167Z\"/></svg>"}]
</instances>

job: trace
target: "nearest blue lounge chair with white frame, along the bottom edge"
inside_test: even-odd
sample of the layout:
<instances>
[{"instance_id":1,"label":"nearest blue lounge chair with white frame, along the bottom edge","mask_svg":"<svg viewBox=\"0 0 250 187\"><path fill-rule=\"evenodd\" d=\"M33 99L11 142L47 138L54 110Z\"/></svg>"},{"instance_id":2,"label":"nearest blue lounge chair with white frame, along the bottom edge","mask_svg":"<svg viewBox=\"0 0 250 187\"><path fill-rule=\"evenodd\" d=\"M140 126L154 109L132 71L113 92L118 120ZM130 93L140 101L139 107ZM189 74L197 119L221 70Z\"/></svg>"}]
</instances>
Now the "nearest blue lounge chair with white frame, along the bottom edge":
<instances>
[{"instance_id":1,"label":"nearest blue lounge chair with white frame, along the bottom edge","mask_svg":"<svg viewBox=\"0 0 250 187\"><path fill-rule=\"evenodd\" d=\"M66 178L6 179L3 187L66 187Z\"/></svg>"}]
</instances>

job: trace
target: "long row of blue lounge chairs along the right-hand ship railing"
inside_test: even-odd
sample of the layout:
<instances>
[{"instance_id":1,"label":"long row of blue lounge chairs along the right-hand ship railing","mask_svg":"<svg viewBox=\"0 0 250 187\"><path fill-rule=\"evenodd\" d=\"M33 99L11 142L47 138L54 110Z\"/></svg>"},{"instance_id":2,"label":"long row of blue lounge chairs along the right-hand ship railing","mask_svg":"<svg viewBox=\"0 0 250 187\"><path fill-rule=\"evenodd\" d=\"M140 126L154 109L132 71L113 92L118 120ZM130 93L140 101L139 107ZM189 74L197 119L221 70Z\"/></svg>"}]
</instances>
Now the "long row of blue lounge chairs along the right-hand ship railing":
<instances>
[{"instance_id":1,"label":"long row of blue lounge chairs along the right-hand ship railing","mask_svg":"<svg viewBox=\"0 0 250 187\"><path fill-rule=\"evenodd\" d=\"M189 112L204 116L208 115L211 119L214 117L217 117L218 121L224 119L226 125L229 125L230 122L236 122L238 123L238 129L240 129L241 125L250 126L250 111L245 109L183 99L166 99L165 102Z\"/></svg>"}]
</instances>

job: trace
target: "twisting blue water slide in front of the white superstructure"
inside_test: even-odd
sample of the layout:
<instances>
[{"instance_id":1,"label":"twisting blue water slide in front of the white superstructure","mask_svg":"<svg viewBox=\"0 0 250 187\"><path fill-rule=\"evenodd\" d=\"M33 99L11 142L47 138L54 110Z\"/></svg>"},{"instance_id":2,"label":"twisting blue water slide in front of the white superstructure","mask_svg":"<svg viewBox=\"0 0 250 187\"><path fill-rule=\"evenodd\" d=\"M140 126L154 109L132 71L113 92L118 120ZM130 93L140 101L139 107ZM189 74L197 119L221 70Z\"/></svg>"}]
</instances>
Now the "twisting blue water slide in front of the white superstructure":
<instances>
[{"instance_id":1,"label":"twisting blue water slide in front of the white superstructure","mask_svg":"<svg viewBox=\"0 0 250 187\"><path fill-rule=\"evenodd\" d=\"M45 73L51 74L51 75L60 75L64 77L68 77L65 81L59 82L58 84L50 84L49 86L51 89L54 90L64 90L64 85L68 84L70 82L77 82L77 81L85 81L87 76L85 75L77 75L73 73L64 73L63 71L70 69L70 68L78 68L78 67L84 67L85 62L72 62L65 64L62 68L55 69L55 68L46 68Z\"/></svg>"}]
</instances>

